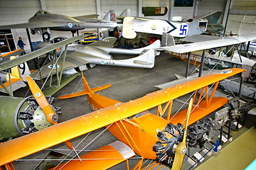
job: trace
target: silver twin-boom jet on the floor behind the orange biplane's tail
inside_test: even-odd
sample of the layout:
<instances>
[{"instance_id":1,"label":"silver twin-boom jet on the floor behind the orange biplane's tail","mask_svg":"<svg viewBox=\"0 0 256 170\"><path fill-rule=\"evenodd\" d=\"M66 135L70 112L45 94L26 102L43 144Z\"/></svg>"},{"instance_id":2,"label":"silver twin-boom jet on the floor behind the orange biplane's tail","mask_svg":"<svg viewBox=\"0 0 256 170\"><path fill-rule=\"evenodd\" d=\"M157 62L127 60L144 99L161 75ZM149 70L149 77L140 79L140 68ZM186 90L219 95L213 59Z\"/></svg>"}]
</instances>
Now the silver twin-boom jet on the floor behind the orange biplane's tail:
<instances>
[{"instance_id":1,"label":"silver twin-boom jet on the floor behind the orange biplane's tail","mask_svg":"<svg viewBox=\"0 0 256 170\"><path fill-rule=\"evenodd\" d=\"M63 38L57 38L58 40L64 40ZM151 69L154 67L154 60L159 52L153 49L160 47L160 40L156 40L151 45L146 47L127 50L112 47L117 38L109 37L97 42L92 42L89 45L80 45L77 42L72 42L68 44L67 52L64 55L60 55L65 50L64 47L58 48L57 55L59 54L57 62L49 62L45 66L41 67L41 77L46 78L53 72L55 74L58 72L58 68L63 64L63 70L69 70L73 68L87 69L85 64L101 64L101 65L111 65L111 66L122 66L122 67L138 67ZM57 42L57 41L55 41ZM46 48L53 45L51 42L41 42L38 45L39 48ZM137 57L132 57L126 60L113 60L110 54L122 54L122 55L139 55ZM92 65L90 65L92 67ZM36 70L30 76L33 79L39 79L39 70Z\"/></svg>"}]
</instances>

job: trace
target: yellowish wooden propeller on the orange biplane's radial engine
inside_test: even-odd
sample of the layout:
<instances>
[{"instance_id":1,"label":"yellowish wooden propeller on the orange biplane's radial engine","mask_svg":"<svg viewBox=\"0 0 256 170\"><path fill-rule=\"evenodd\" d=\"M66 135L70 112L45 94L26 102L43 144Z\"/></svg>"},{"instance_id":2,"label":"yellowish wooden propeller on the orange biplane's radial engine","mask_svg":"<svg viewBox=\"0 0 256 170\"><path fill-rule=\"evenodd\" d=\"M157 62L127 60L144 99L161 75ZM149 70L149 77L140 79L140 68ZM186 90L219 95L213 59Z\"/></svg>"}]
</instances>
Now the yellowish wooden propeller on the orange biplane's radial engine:
<instances>
[{"instance_id":1,"label":"yellowish wooden propeller on the orange biplane's radial engine","mask_svg":"<svg viewBox=\"0 0 256 170\"><path fill-rule=\"evenodd\" d=\"M193 98L191 98L191 100L189 101L188 112L186 115L186 124L185 124L184 132L183 132L183 140L176 147L174 164L171 167L171 169L180 170L182 167L182 164L183 164L183 159L186 154L186 132L188 129L188 120L189 120L189 117L191 114L192 105L193 105Z\"/></svg>"}]
</instances>

